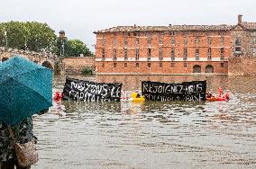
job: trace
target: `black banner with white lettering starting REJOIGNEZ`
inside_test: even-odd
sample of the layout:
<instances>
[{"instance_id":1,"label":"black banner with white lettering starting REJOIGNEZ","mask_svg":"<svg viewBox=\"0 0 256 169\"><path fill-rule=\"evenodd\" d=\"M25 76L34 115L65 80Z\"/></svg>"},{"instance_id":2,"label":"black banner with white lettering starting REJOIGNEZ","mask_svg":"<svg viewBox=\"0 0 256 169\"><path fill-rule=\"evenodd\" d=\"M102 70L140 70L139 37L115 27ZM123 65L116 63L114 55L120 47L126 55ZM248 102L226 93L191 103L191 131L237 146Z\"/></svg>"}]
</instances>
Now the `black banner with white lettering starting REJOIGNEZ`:
<instances>
[{"instance_id":1,"label":"black banner with white lettering starting REJOIGNEZ","mask_svg":"<svg viewBox=\"0 0 256 169\"><path fill-rule=\"evenodd\" d=\"M143 81L142 95L146 101L206 101L206 81L181 84Z\"/></svg>"}]
</instances>

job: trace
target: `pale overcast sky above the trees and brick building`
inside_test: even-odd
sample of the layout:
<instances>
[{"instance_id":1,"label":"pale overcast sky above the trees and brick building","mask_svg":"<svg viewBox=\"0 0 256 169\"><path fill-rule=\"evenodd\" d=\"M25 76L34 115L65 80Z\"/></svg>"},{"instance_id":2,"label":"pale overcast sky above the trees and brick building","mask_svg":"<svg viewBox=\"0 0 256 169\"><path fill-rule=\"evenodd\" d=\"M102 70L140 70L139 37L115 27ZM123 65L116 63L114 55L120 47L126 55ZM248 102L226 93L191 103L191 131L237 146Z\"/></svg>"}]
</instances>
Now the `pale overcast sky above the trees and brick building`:
<instances>
[{"instance_id":1,"label":"pale overcast sky above the trees and brick building","mask_svg":"<svg viewBox=\"0 0 256 169\"><path fill-rule=\"evenodd\" d=\"M235 24L256 22L256 0L1 0L0 22L47 22L90 49L93 31L117 25ZM57 33L58 34L58 33Z\"/></svg>"}]
</instances>

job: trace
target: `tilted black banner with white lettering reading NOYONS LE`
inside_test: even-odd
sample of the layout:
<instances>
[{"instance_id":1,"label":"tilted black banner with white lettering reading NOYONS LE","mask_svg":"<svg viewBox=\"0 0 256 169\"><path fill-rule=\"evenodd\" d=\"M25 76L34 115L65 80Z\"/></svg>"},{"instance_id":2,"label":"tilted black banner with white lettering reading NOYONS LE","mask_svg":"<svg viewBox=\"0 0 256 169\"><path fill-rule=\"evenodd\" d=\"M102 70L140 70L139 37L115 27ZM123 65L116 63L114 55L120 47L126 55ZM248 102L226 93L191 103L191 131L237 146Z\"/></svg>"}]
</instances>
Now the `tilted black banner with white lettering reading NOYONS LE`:
<instances>
[{"instance_id":1,"label":"tilted black banner with white lettering reading NOYONS LE","mask_svg":"<svg viewBox=\"0 0 256 169\"><path fill-rule=\"evenodd\" d=\"M74 101L102 102L120 101L122 84L104 84L67 77L63 98Z\"/></svg>"}]
</instances>

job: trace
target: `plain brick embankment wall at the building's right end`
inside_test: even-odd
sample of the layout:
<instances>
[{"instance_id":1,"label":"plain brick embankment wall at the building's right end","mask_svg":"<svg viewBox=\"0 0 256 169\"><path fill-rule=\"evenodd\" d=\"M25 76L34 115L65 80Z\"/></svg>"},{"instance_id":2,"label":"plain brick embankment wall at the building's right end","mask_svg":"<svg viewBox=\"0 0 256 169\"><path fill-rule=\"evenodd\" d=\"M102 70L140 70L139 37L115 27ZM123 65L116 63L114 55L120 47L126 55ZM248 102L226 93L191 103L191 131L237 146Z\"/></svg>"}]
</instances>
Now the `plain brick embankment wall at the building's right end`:
<instances>
[{"instance_id":1,"label":"plain brick embankment wall at the building's right end","mask_svg":"<svg viewBox=\"0 0 256 169\"><path fill-rule=\"evenodd\" d=\"M256 76L256 58L229 58L229 76Z\"/></svg>"}]
</instances>

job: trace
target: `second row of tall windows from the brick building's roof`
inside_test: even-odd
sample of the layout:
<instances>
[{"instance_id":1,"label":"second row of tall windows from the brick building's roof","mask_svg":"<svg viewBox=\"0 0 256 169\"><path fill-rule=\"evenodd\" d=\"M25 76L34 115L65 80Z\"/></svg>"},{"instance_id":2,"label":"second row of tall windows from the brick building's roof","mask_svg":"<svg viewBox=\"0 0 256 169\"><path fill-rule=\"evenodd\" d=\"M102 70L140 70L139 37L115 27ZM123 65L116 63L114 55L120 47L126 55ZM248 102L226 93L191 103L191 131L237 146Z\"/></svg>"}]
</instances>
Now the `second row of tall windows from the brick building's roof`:
<instances>
[{"instance_id":1,"label":"second row of tall windows from the brick building's roof","mask_svg":"<svg viewBox=\"0 0 256 169\"><path fill-rule=\"evenodd\" d=\"M151 49L148 49L148 60L151 60ZM105 49L102 49L102 58L105 59ZM124 60L128 59L128 49L123 49L123 58ZM140 49L136 49L135 50L135 59L139 60L140 58ZM175 60L175 49L171 48L170 50L170 58L171 60ZM195 58L196 60L199 60L199 49L195 50ZM221 48L220 50L220 58L224 59L224 48ZM116 49L113 49L113 59L116 60ZM159 49L159 59L162 60L163 59L163 49L160 48ZM187 49L183 50L183 59L187 60ZM211 60L212 59L212 49L208 48L207 50L207 59Z\"/></svg>"}]
</instances>

